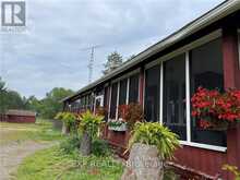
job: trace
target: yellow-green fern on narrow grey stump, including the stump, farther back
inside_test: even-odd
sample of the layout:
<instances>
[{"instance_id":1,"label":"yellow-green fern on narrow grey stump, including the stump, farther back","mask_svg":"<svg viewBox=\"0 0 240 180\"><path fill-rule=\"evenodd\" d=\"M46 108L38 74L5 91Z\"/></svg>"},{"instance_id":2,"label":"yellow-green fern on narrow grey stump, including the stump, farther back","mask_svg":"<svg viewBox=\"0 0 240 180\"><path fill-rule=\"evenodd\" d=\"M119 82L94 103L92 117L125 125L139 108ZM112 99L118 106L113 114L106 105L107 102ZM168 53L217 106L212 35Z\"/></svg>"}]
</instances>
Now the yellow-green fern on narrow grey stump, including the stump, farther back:
<instances>
[{"instance_id":1,"label":"yellow-green fern on narrow grey stump, including the stump, farther back","mask_svg":"<svg viewBox=\"0 0 240 180\"><path fill-rule=\"evenodd\" d=\"M104 117L94 115L89 110L80 116L79 130L82 133L81 153L87 156L92 152L92 141L97 135Z\"/></svg>"}]
</instances>

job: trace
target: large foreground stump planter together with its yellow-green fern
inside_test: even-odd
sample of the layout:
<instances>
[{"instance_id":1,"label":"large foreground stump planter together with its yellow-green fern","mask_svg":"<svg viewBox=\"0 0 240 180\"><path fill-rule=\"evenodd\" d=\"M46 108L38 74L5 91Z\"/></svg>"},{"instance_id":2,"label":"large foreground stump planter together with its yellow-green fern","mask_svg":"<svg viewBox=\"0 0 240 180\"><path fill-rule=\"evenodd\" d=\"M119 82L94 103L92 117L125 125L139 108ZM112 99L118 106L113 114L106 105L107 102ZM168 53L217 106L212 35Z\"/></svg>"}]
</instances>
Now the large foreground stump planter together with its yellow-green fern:
<instances>
[{"instance_id":1,"label":"large foreground stump planter together with its yellow-green fern","mask_svg":"<svg viewBox=\"0 0 240 180\"><path fill-rule=\"evenodd\" d=\"M180 146L178 135L157 122L136 122L129 141L130 156L122 180L163 180L164 165Z\"/></svg>"}]
</instances>

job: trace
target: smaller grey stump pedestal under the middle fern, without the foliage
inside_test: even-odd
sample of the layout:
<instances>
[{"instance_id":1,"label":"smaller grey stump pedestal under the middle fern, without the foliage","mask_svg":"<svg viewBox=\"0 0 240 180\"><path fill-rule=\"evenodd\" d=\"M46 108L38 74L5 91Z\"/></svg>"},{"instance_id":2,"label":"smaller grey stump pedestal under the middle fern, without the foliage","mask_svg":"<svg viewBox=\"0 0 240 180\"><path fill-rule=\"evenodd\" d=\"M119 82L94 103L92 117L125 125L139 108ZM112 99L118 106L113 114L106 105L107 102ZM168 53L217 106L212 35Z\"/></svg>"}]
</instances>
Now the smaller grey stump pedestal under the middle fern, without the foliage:
<instances>
[{"instance_id":1,"label":"smaller grey stump pedestal under the middle fern, without the foliage","mask_svg":"<svg viewBox=\"0 0 240 180\"><path fill-rule=\"evenodd\" d=\"M88 134L88 132L84 132L80 151L82 155L88 156L91 154L91 149L92 149L92 136Z\"/></svg>"}]
</instances>

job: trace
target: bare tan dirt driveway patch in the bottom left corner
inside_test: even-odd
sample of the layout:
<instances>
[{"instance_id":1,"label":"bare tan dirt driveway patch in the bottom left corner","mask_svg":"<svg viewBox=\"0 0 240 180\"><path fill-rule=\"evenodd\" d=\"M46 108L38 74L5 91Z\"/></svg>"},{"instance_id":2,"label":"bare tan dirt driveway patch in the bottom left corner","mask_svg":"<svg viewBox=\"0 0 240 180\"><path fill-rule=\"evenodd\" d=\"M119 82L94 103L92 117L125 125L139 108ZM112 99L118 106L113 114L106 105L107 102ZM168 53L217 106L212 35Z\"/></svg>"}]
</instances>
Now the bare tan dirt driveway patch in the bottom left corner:
<instances>
[{"instance_id":1,"label":"bare tan dirt driveway patch in the bottom left corner","mask_svg":"<svg viewBox=\"0 0 240 180\"><path fill-rule=\"evenodd\" d=\"M11 172L14 171L19 164L28 155L38 149L52 146L56 143L39 143L26 141L21 143L11 143L0 146L0 180L9 180Z\"/></svg>"}]
</instances>

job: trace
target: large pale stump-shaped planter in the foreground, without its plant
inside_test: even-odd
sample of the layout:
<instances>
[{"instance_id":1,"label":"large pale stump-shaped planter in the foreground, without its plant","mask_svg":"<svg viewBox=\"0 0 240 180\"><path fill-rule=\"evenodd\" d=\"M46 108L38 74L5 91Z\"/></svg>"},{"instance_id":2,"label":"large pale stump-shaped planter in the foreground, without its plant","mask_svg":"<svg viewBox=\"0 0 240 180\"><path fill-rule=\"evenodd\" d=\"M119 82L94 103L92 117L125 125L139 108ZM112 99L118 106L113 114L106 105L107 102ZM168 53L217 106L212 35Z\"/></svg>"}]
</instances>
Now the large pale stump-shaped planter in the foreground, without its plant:
<instances>
[{"instance_id":1,"label":"large pale stump-shaped planter in the foreground, without its plant","mask_svg":"<svg viewBox=\"0 0 240 180\"><path fill-rule=\"evenodd\" d=\"M133 145L121 180L163 180L164 161L156 146Z\"/></svg>"}]
</instances>

